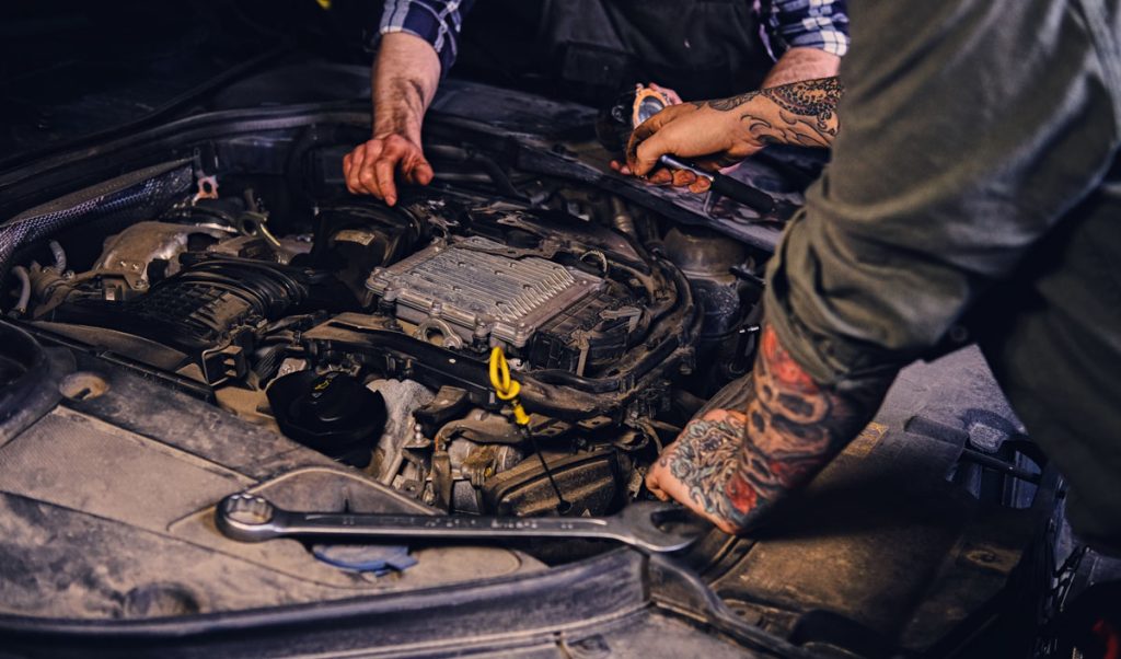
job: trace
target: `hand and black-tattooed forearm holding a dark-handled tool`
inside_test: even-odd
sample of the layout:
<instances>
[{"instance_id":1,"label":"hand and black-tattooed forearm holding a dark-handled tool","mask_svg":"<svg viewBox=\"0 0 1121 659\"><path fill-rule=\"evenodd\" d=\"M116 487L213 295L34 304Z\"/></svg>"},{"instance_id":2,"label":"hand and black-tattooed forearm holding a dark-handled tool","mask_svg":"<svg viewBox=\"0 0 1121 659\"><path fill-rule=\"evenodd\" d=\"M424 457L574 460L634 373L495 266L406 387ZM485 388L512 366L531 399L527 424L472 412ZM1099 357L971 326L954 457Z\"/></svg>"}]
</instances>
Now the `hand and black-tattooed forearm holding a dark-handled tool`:
<instances>
[{"instance_id":1,"label":"hand and black-tattooed forearm holding a dark-handled tool","mask_svg":"<svg viewBox=\"0 0 1121 659\"><path fill-rule=\"evenodd\" d=\"M730 99L666 108L634 129L627 165L652 183L689 185L697 177L658 167L667 154L694 160L708 170L734 165L770 143L828 147L840 120L843 89L835 77L793 83Z\"/></svg>"}]
</instances>

